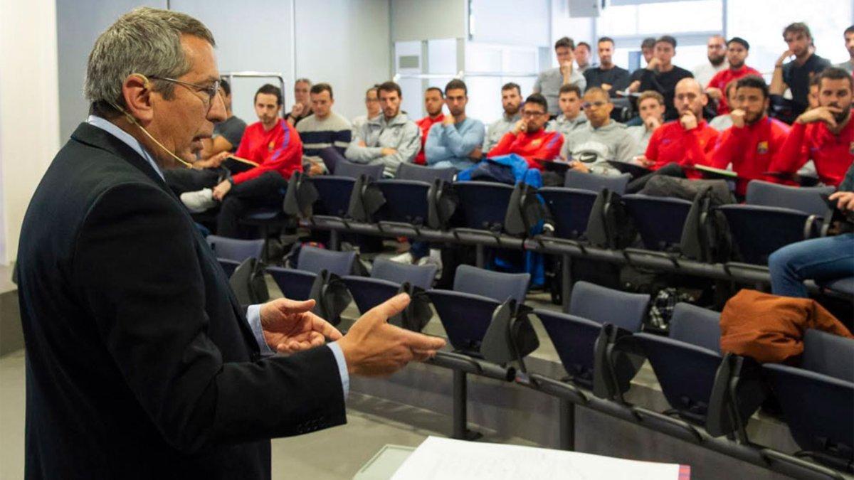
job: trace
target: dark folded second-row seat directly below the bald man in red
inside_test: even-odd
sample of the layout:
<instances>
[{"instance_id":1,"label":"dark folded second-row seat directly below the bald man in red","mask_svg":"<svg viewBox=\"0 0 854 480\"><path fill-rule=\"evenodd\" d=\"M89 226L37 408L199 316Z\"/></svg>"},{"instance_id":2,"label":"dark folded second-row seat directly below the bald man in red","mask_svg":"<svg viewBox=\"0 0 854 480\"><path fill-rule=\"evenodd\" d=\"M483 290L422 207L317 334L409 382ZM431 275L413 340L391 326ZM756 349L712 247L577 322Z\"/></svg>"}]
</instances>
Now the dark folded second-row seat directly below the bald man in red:
<instances>
[{"instance_id":1,"label":"dark folded second-row seat directly below the bald man in red","mask_svg":"<svg viewBox=\"0 0 854 480\"><path fill-rule=\"evenodd\" d=\"M679 247L691 202L681 198L627 195L623 203L635 220L644 248L670 251Z\"/></svg>"}]
</instances>

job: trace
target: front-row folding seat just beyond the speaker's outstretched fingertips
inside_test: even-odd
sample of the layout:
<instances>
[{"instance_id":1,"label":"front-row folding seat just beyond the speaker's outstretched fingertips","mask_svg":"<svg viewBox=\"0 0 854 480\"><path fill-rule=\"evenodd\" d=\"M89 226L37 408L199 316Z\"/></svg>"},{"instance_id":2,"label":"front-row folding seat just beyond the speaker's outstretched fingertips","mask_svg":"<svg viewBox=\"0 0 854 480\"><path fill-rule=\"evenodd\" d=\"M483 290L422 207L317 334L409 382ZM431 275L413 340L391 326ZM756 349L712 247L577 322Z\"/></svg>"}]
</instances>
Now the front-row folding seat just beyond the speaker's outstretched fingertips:
<instances>
[{"instance_id":1,"label":"front-row folding seat just beyond the speaker's outstretched fingertips","mask_svg":"<svg viewBox=\"0 0 854 480\"><path fill-rule=\"evenodd\" d=\"M429 290L427 294L454 350L480 357L481 342L495 309L509 298L524 302L529 281L528 273L491 272L461 265L453 278L453 290Z\"/></svg>"}]
</instances>

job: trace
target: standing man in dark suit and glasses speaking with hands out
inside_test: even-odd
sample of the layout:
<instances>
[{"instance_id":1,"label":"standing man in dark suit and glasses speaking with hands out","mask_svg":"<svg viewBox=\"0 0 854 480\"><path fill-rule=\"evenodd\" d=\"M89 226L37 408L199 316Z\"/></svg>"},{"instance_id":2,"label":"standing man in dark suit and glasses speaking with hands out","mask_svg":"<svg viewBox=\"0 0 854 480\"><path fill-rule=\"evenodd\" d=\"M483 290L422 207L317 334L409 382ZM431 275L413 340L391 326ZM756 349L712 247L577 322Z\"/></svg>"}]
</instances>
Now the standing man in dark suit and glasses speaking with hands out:
<instances>
[{"instance_id":1,"label":"standing man in dark suit and glasses speaking with hands out","mask_svg":"<svg viewBox=\"0 0 854 480\"><path fill-rule=\"evenodd\" d=\"M269 478L270 438L346 421L349 375L444 345L386 322L407 296L344 337L313 301L237 304L162 174L225 120L213 47L188 15L136 9L91 51L91 115L20 237L27 478Z\"/></svg>"}]
</instances>

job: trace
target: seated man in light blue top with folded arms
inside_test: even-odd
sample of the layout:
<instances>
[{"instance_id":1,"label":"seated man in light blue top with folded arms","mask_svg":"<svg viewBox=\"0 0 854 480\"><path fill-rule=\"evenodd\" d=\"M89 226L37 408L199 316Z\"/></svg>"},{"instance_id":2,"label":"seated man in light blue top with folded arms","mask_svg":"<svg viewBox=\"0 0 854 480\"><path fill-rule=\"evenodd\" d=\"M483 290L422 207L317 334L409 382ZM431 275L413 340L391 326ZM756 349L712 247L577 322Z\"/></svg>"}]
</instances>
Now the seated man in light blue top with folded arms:
<instances>
[{"instance_id":1,"label":"seated man in light blue top with folded arms","mask_svg":"<svg viewBox=\"0 0 854 480\"><path fill-rule=\"evenodd\" d=\"M453 79L445 85L447 111L442 123L430 128L424 152L430 167L465 170L483 157L483 122L465 116L469 102L465 82Z\"/></svg>"}]
</instances>

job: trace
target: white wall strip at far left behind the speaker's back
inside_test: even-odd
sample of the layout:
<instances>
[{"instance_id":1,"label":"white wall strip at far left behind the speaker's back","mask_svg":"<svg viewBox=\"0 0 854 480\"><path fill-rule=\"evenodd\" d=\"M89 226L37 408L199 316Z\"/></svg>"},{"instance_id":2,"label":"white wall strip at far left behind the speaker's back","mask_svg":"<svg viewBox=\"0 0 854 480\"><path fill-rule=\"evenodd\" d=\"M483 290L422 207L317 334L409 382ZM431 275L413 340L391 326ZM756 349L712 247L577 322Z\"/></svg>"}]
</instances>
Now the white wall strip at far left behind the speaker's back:
<instances>
[{"instance_id":1,"label":"white wall strip at far left behind the speaker's back","mask_svg":"<svg viewBox=\"0 0 854 480\"><path fill-rule=\"evenodd\" d=\"M58 97L55 3L0 0L0 263L15 260L26 206L59 148Z\"/></svg>"}]
</instances>

